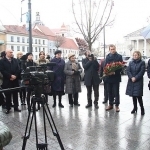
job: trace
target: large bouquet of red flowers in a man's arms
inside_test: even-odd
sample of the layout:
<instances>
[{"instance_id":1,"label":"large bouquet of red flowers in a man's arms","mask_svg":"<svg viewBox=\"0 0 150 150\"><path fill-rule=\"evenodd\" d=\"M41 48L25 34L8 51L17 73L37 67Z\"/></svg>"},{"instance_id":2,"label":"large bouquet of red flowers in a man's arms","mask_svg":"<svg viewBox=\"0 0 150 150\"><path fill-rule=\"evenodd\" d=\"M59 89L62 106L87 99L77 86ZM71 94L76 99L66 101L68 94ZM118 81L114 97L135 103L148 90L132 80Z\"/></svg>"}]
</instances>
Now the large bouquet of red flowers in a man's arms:
<instances>
[{"instance_id":1,"label":"large bouquet of red flowers in a man's arms","mask_svg":"<svg viewBox=\"0 0 150 150\"><path fill-rule=\"evenodd\" d=\"M102 78L105 76L111 75L111 73L115 72L116 70L122 69L124 65L125 65L125 62L113 62L113 63L107 64L104 67Z\"/></svg>"}]
</instances>

